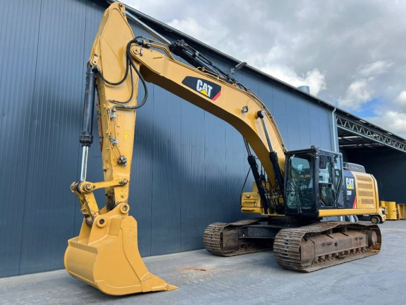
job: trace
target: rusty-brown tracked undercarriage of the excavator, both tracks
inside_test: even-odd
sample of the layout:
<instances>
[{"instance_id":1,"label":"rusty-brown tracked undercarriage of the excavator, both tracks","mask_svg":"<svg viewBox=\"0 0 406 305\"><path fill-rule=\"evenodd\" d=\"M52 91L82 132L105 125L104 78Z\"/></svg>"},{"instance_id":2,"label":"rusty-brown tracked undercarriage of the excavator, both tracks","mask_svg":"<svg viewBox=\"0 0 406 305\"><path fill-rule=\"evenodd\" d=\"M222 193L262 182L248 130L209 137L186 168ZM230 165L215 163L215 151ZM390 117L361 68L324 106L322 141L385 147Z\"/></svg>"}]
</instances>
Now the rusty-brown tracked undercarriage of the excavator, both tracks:
<instances>
[{"instance_id":1,"label":"rusty-brown tracked undercarriage of the excavator, both tracks","mask_svg":"<svg viewBox=\"0 0 406 305\"><path fill-rule=\"evenodd\" d=\"M274 250L278 264L312 272L378 254L381 231L368 222L314 222L256 218L210 224L204 233L207 251L234 256Z\"/></svg>"}]
</instances>

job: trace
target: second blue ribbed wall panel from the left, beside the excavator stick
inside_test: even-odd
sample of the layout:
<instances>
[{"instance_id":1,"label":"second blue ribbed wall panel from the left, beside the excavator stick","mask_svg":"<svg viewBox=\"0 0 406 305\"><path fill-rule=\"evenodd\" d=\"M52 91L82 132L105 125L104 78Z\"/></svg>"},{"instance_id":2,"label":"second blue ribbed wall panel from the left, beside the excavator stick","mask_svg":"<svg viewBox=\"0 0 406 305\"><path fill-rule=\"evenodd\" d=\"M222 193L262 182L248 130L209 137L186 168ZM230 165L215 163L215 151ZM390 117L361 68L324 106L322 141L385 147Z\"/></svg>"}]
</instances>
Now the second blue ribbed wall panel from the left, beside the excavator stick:
<instances>
[{"instance_id":1,"label":"second blue ribbed wall panel from the left, beside the excavator stick","mask_svg":"<svg viewBox=\"0 0 406 305\"><path fill-rule=\"evenodd\" d=\"M60 264L66 245L60 237L74 230L67 186L78 174L85 12L77 1L41 4L20 274Z\"/></svg>"}]
</instances>

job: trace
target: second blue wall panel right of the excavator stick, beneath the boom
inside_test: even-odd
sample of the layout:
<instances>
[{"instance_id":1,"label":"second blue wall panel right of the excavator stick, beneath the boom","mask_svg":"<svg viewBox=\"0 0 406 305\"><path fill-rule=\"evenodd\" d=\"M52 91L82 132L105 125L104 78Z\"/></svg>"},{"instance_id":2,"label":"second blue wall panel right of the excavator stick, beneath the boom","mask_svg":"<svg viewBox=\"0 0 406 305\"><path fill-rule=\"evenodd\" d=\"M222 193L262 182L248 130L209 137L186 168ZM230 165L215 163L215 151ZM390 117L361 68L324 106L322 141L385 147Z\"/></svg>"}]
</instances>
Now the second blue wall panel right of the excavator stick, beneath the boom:
<instances>
[{"instance_id":1,"label":"second blue wall panel right of the excavator stick, beneath the boom","mask_svg":"<svg viewBox=\"0 0 406 305\"><path fill-rule=\"evenodd\" d=\"M176 96L157 86L154 87L153 97L151 234L154 242L151 243L151 255L157 255L175 252L181 244L181 104Z\"/></svg>"}]
</instances>

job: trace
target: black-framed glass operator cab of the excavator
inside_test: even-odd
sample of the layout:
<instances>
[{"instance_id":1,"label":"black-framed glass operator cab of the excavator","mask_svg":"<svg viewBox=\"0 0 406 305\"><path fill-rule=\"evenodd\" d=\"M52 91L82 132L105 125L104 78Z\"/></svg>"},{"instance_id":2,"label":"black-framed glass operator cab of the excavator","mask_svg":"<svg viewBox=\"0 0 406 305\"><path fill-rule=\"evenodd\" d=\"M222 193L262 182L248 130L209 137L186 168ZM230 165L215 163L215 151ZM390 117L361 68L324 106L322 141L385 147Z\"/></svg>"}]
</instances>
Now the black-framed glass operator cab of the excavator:
<instances>
[{"instance_id":1,"label":"black-framed glass operator cab of the excavator","mask_svg":"<svg viewBox=\"0 0 406 305\"><path fill-rule=\"evenodd\" d=\"M289 151L285 165L285 213L319 217L319 209L344 208L343 156L312 146Z\"/></svg>"}]
</instances>

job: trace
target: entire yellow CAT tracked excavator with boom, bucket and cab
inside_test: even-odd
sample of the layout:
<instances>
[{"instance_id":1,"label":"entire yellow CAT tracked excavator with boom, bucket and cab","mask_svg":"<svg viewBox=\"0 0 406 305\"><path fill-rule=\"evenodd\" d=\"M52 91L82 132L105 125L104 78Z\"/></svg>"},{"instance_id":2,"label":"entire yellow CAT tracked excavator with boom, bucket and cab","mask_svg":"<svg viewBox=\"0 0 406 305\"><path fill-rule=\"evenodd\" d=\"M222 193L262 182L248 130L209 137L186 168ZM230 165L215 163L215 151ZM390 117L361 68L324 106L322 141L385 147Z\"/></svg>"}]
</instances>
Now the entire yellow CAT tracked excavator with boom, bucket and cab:
<instances>
[{"instance_id":1,"label":"entire yellow CAT tracked excavator with boom, bucket and cab","mask_svg":"<svg viewBox=\"0 0 406 305\"><path fill-rule=\"evenodd\" d=\"M139 82L145 93L137 104ZM254 182L252 192L241 195L241 211L256 218L210 224L203 236L210 253L232 256L273 249L280 266L311 272L380 251L376 224L321 221L376 214L378 189L372 175L360 166L346 170L342 155L334 151L314 146L287 150L272 113L257 95L182 40L134 38L125 6L116 2L101 20L86 71L81 178L71 185L84 219L64 256L72 276L112 295L177 288L148 271L138 250L137 221L128 215L136 112L147 101L146 82L225 120L243 136ZM94 104L101 182L86 181ZM106 194L103 208L93 195L101 188Z\"/></svg>"}]
</instances>

